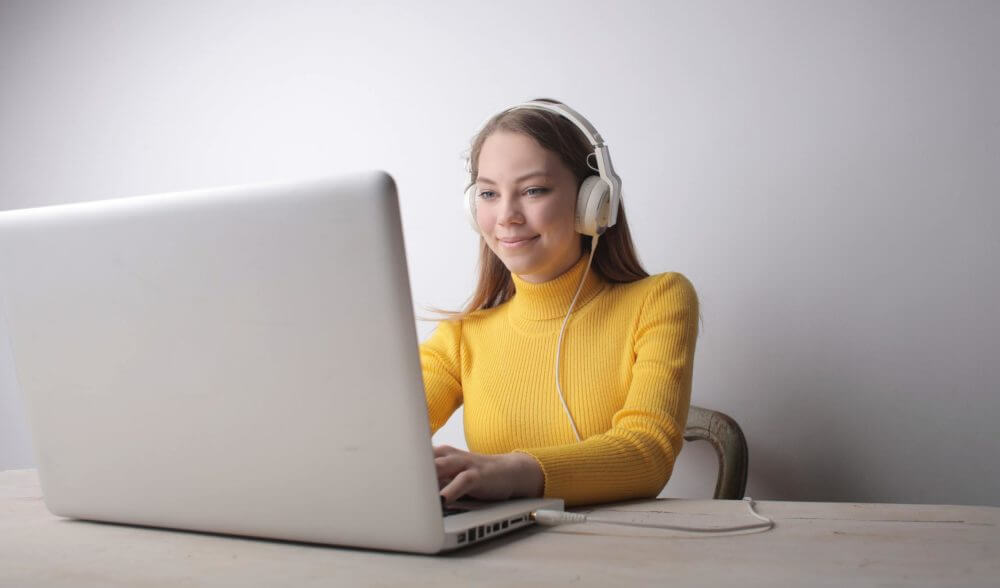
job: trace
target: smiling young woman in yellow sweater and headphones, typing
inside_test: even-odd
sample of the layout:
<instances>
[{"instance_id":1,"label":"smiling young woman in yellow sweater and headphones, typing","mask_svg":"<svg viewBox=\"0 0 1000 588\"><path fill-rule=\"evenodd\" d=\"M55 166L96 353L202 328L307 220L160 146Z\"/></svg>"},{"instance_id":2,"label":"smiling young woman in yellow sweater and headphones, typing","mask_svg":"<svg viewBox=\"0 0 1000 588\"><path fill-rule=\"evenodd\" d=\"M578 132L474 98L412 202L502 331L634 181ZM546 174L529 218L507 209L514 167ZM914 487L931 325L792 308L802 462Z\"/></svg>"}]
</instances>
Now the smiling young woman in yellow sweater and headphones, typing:
<instances>
[{"instance_id":1,"label":"smiling young woman in yellow sweater and headphones, typing","mask_svg":"<svg viewBox=\"0 0 1000 588\"><path fill-rule=\"evenodd\" d=\"M465 406L471 452L434 449L448 502L655 497L670 477L698 299L683 275L642 269L601 143L544 99L495 115L473 141L479 284L420 347L431 429Z\"/></svg>"}]
</instances>

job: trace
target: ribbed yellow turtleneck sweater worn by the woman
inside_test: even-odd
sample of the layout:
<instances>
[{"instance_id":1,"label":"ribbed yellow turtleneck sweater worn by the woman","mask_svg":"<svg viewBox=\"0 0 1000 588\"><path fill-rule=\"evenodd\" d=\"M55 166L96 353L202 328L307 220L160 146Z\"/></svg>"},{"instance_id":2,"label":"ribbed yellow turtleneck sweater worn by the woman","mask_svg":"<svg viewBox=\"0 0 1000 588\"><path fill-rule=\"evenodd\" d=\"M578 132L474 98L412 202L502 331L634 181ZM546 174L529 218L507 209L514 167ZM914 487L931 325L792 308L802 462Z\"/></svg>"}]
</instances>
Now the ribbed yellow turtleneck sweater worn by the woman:
<instances>
[{"instance_id":1,"label":"ribbed yellow turtleneck sweater worn by the woman","mask_svg":"<svg viewBox=\"0 0 1000 588\"><path fill-rule=\"evenodd\" d=\"M514 276L506 303L442 321L420 346L431 430L465 405L469 450L532 455L545 496L567 505L656 496L681 449L691 399L698 298L681 274L628 284L587 276L563 338L563 395L556 341L587 264L549 282Z\"/></svg>"}]
</instances>

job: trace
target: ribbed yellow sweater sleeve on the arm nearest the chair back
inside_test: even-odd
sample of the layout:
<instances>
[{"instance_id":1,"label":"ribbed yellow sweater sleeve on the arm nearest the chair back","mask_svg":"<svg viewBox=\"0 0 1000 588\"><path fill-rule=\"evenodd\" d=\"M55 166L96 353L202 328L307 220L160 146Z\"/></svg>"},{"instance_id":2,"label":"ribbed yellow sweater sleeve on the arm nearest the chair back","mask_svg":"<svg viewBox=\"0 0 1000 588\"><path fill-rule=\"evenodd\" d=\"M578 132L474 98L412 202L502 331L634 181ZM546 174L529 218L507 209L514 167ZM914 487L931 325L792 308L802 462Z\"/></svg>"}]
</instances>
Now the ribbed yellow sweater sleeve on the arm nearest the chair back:
<instances>
[{"instance_id":1,"label":"ribbed yellow sweater sleeve on the arm nearest the chair back","mask_svg":"<svg viewBox=\"0 0 1000 588\"><path fill-rule=\"evenodd\" d=\"M662 274L634 325L632 379L611 428L582 442L520 449L545 476L545 497L568 506L655 497L683 443L698 336L698 298L683 275Z\"/></svg>"}]
</instances>

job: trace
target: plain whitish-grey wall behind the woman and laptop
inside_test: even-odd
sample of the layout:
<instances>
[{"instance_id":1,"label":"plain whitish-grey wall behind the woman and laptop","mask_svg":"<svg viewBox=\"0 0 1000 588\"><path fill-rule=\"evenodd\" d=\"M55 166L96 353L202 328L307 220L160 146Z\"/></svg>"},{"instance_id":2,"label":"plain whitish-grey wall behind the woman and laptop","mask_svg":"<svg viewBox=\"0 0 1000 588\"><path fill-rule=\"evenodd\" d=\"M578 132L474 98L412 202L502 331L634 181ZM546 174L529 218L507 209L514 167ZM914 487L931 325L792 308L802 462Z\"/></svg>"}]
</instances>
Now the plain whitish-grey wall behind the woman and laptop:
<instances>
[{"instance_id":1,"label":"plain whitish-grey wall behind the woman and laptop","mask_svg":"<svg viewBox=\"0 0 1000 588\"><path fill-rule=\"evenodd\" d=\"M998 39L988 1L5 1L0 209L385 168L416 306L457 307L461 154L559 98L698 289L753 496L1000 504ZM4 339L0 469L33 462Z\"/></svg>"}]
</instances>

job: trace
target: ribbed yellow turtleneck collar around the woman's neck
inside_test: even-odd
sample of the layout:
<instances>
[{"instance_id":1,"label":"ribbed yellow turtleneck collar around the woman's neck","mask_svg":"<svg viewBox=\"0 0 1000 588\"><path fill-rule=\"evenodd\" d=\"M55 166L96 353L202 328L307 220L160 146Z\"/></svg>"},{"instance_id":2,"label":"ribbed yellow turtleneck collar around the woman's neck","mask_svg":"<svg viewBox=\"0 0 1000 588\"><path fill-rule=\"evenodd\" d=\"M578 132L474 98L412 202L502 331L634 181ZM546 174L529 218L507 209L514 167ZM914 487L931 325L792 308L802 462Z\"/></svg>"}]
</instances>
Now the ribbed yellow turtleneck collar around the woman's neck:
<instances>
[{"instance_id":1,"label":"ribbed yellow turtleneck collar around the woman's neck","mask_svg":"<svg viewBox=\"0 0 1000 588\"><path fill-rule=\"evenodd\" d=\"M548 282L533 284L525 282L517 274L511 274L516 290L514 297L510 300L510 313L514 319L541 321L554 318L564 318L569 310L569 303L573 301L573 295L580 285L580 278L587 268L587 258L589 254L580 256L573 267L569 268L561 276L553 278ZM582 308L590 302L604 287L604 282L591 267L587 273L587 280L580 291L580 297L576 300L573 312Z\"/></svg>"}]
</instances>

